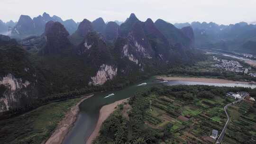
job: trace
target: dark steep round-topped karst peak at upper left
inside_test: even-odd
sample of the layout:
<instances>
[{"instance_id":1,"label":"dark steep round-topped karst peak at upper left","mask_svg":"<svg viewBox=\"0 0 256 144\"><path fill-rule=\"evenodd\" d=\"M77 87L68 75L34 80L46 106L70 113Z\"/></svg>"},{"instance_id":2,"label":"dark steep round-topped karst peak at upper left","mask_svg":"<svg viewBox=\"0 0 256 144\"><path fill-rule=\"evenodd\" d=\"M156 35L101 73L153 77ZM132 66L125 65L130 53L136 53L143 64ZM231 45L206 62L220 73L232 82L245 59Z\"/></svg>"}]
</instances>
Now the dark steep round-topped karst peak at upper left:
<instances>
[{"instance_id":1,"label":"dark steep round-topped karst peak at upper left","mask_svg":"<svg viewBox=\"0 0 256 144\"><path fill-rule=\"evenodd\" d=\"M46 23L45 40L46 46L43 54L57 54L70 46L69 33L59 22L49 21Z\"/></svg>"}]
</instances>

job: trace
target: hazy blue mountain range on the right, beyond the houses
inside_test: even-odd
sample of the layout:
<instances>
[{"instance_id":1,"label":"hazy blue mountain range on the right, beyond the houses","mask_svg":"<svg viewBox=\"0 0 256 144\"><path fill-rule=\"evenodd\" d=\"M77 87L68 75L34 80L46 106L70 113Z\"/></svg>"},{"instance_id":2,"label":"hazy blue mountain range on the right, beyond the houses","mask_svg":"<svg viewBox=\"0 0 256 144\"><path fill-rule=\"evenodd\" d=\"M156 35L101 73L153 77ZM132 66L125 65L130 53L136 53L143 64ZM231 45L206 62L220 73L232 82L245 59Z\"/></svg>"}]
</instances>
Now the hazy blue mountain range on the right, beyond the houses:
<instances>
[{"instance_id":1,"label":"hazy blue mountain range on the right, beyond the houses","mask_svg":"<svg viewBox=\"0 0 256 144\"><path fill-rule=\"evenodd\" d=\"M192 22L176 23L174 26L191 26L195 35L195 45L198 47L256 54L256 25L246 22L234 25Z\"/></svg>"}]
</instances>

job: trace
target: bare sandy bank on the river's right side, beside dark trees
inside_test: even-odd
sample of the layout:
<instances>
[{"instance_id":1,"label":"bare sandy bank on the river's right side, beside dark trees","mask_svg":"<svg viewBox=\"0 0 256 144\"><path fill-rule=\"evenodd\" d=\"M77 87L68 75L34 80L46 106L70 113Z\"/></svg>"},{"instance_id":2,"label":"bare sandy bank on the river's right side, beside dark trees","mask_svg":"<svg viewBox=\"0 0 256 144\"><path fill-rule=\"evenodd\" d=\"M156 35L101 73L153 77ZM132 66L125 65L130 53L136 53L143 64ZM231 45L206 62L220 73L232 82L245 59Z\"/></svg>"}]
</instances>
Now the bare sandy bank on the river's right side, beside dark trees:
<instances>
[{"instance_id":1,"label":"bare sandy bank on the river's right side, beside dark trees","mask_svg":"<svg viewBox=\"0 0 256 144\"><path fill-rule=\"evenodd\" d=\"M91 136L88 138L86 144L92 144L93 140L99 135L102 123L110 116L110 114L112 112L115 111L115 108L118 105L124 103L127 100L128 99L122 99L122 100L116 101L114 103L111 103L109 105L103 106L101 108L100 116L99 116L98 122L96 124L96 127L95 127L94 131L92 132Z\"/></svg>"}]
</instances>

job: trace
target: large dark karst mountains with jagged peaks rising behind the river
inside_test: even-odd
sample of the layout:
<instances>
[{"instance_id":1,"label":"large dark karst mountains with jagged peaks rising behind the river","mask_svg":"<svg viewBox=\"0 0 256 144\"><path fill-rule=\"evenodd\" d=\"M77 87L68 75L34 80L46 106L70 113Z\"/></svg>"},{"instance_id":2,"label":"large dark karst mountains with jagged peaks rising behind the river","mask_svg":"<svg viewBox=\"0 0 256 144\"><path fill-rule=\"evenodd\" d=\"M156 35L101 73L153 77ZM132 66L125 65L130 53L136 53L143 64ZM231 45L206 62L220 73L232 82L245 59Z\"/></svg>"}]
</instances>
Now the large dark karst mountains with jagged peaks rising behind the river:
<instances>
[{"instance_id":1,"label":"large dark karst mountains with jagged peaks rising behind the river","mask_svg":"<svg viewBox=\"0 0 256 144\"><path fill-rule=\"evenodd\" d=\"M102 18L76 26L46 13L22 15L12 35L28 37L0 36L0 112L72 96L49 97L60 92L119 89L204 58L193 49L192 27L179 29L162 19L142 22L135 14L120 26Z\"/></svg>"}]
</instances>

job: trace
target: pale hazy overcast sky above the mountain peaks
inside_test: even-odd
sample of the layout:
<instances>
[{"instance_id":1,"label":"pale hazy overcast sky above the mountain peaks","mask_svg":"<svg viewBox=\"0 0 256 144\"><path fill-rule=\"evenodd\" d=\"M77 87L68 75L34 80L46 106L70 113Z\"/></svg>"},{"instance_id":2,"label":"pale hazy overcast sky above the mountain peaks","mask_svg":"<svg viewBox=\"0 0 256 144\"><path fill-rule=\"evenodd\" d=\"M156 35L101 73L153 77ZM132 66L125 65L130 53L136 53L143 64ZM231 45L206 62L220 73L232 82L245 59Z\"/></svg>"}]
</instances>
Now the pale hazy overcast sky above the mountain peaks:
<instances>
[{"instance_id":1,"label":"pale hazy overcast sky above the mountain peaks","mask_svg":"<svg viewBox=\"0 0 256 144\"><path fill-rule=\"evenodd\" d=\"M256 0L0 0L0 19L18 21L21 14L31 18L43 12L62 19L83 18L124 21L130 13L145 21L206 21L219 24L256 21Z\"/></svg>"}]
</instances>

